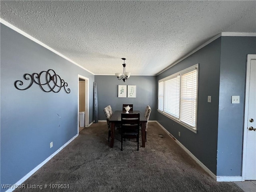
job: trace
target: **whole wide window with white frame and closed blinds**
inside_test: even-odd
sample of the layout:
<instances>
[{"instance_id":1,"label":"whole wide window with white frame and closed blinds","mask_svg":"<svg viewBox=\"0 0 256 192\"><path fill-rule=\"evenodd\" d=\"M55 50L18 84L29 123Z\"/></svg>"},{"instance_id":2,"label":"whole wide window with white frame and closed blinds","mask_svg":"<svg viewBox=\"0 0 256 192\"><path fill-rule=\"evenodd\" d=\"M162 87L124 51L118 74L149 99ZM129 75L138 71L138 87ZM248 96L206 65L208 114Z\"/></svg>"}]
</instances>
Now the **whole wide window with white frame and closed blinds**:
<instances>
[{"instance_id":1,"label":"whole wide window with white frame and closed blinds","mask_svg":"<svg viewBox=\"0 0 256 192\"><path fill-rule=\"evenodd\" d=\"M158 111L196 130L198 64L158 81Z\"/></svg>"}]
</instances>

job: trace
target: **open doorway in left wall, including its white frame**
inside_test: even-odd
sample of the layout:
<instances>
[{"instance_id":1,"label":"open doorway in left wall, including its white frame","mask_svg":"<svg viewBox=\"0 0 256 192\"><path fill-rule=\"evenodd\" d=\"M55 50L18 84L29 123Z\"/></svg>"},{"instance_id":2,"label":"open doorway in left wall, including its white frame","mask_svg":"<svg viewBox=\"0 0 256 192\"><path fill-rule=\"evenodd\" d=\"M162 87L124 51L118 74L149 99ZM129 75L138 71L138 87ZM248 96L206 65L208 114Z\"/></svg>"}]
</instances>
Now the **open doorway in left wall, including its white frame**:
<instances>
[{"instance_id":1,"label":"open doorway in left wall, including its white frame","mask_svg":"<svg viewBox=\"0 0 256 192\"><path fill-rule=\"evenodd\" d=\"M80 112L84 112L84 124L80 126ZM82 113L81 113L82 114ZM82 114L83 115L83 114ZM84 126L83 126L84 125ZM78 75L78 133L89 126L89 79Z\"/></svg>"}]
</instances>

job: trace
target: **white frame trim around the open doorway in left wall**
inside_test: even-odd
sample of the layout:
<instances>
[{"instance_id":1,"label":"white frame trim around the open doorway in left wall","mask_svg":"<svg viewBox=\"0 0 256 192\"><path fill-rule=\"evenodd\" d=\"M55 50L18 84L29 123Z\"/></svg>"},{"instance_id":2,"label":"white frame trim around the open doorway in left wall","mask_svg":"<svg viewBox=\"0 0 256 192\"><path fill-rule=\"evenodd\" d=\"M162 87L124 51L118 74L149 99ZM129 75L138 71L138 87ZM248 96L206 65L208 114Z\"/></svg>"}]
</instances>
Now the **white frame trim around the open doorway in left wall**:
<instances>
[{"instance_id":1,"label":"white frame trim around the open doorway in left wall","mask_svg":"<svg viewBox=\"0 0 256 192\"><path fill-rule=\"evenodd\" d=\"M84 77L82 75L78 74L78 78L77 78L77 86L78 86L78 96L77 96L77 100L78 100L78 105L77 105L77 132L79 134L79 78L85 80L85 127L89 126L89 78Z\"/></svg>"}]
</instances>

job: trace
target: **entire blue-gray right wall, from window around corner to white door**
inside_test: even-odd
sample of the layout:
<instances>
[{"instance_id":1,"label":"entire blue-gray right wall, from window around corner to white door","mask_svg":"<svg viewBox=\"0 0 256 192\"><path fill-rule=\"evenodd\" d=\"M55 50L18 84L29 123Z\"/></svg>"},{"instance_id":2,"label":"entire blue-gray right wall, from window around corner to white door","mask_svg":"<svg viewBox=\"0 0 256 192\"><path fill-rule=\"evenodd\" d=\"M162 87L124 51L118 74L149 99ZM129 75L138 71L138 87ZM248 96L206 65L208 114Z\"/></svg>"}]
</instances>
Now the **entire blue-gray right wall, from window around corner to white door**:
<instances>
[{"instance_id":1,"label":"entire blue-gray right wall, from window around corner to white door","mask_svg":"<svg viewBox=\"0 0 256 192\"><path fill-rule=\"evenodd\" d=\"M157 77L199 63L197 134L160 113L157 120L216 176L242 175L247 54L256 54L256 37L222 36ZM232 95L240 104L231 104Z\"/></svg>"}]
</instances>

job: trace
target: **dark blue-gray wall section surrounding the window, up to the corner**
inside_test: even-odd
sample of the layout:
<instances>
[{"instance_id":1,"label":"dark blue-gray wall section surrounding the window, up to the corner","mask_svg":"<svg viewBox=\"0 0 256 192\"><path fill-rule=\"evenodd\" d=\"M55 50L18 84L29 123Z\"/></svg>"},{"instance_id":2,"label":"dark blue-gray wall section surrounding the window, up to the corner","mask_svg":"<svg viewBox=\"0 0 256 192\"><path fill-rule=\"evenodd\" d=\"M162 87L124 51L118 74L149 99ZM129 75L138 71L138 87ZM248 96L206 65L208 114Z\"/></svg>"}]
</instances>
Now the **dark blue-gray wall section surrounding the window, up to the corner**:
<instances>
[{"instance_id":1,"label":"dark blue-gray wall section surrounding the window, up to the corner","mask_svg":"<svg viewBox=\"0 0 256 192\"><path fill-rule=\"evenodd\" d=\"M157 112L158 122L216 174L220 38L157 76L157 81L199 63L197 133ZM212 96L212 102L207 102ZM180 132L180 137L178 136Z\"/></svg>"}]
</instances>

